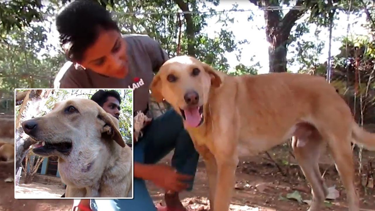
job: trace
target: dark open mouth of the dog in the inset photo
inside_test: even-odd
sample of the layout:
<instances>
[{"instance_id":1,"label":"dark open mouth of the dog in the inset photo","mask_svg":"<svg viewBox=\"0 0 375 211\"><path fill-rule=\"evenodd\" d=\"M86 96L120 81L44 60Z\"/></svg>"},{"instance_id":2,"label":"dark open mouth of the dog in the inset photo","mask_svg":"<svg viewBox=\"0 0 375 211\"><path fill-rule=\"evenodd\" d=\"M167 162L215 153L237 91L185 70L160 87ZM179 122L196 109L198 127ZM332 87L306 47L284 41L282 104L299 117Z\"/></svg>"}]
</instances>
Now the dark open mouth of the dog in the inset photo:
<instances>
[{"instance_id":1,"label":"dark open mouth of the dog in the inset photo","mask_svg":"<svg viewBox=\"0 0 375 211\"><path fill-rule=\"evenodd\" d=\"M71 142L48 143L45 141L36 141L32 146L35 154L49 155L54 151L67 154L71 151L73 145Z\"/></svg>"}]
</instances>

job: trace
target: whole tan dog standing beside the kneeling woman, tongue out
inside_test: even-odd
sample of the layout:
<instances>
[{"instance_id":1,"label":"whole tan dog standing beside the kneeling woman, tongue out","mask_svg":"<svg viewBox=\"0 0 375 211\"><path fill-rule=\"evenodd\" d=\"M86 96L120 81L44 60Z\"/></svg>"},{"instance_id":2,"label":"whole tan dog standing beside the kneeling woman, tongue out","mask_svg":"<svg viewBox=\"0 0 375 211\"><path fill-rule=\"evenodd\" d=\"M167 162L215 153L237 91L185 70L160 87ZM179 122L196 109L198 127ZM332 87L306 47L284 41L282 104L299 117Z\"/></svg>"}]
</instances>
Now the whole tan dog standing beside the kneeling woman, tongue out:
<instances>
[{"instance_id":1,"label":"whole tan dog standing beside the kneeling woman, tongue out","mask_svg":"<svg viewBox=\"0 0 375 211\"><path fill-rule=\"evenodd\" d=\"M309 211L320 210L327 194L318 168L324 144L347 189L349 210L359 210L351 141L375 150L375 135L354 122L348 105L324 78L290 73L233 77L179 56L163 64L151 92L182 116L204 158L211 210L229 209L239 156L258 154L295 136L301 143L297 146L294 139L293 149L313 191Z\"/></svg>"}]
</instances>

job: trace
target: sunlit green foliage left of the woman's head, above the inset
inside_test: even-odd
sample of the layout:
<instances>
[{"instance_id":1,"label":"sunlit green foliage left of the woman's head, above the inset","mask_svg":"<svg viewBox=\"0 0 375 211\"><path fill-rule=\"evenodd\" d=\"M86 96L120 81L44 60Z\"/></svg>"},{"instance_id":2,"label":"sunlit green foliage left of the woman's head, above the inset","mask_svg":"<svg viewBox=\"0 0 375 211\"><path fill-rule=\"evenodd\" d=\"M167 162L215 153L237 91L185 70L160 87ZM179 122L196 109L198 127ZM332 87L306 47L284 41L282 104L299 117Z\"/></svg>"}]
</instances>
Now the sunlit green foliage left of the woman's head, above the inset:
<instances>
[{"instance_id":1,"label":"sunlit green foliage left of the woman's head, above the inset","mask_svg":"<svg viewBox=\"0 0 375 211\"><path fill-rule=\"evenodd\" d=\"M54 20L52 17L58 6L49 2L48 5L36 8L43 16L31 21L27 26L11 27L2 35L3 39L0 42L2 89L12 92L18 87L53 87L54 77L65 62L63 54L47 53L58 51L54 43L46 43L47 33L51 32Z\"/></svg>"}]
</instances>

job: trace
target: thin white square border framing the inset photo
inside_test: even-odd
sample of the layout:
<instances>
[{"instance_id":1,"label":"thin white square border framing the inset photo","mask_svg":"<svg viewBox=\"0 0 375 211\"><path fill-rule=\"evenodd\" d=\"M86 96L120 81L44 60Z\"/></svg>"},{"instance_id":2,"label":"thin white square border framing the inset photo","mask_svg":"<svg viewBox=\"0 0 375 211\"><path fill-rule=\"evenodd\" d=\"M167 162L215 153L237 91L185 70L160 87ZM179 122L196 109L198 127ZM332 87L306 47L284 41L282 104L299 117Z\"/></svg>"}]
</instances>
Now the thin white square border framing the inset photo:
<instances>
[{"instance_id":1,"label":"thin white square border framing the inset photo","mask_svg":"<svg viewBox=\"0 0 375 211\"><path fill-rule=\"evenodd\" d=\"M92 90L92 89L89 89L89 88L83 88L83 89L54 89L54 88L48 88L48 89L35 89L35 88L16 88L14 89L14 134L16 134L16 119L17 119L17 116L16 116L16 90L18 89L22 89L22 90ZM96 90L99 90L99 89L96 89ZM48 197L48 198L45 198L45 197L42 197L42 198L30 198L30 197L19 197L17 198L16 197L16 142L15 142L15 139L16 137L14 136L14 198L15 199L133 199L134 198L134 133L133 133L133 127L134 127L134 116L133 116L133 113L134 113L134 90L133 89L129 89L129 88L125 88L125 89L102 89L102 90L132 90L132 121L131 121L131 133L132 133L132 197L112 197L112 198L108 198L108 197L99 197L99 198L89 198L89 197L85 197L85 198L61 198L61 197ZM120 93L121 94L121 93Z\"/></svg>"}]
</instances>

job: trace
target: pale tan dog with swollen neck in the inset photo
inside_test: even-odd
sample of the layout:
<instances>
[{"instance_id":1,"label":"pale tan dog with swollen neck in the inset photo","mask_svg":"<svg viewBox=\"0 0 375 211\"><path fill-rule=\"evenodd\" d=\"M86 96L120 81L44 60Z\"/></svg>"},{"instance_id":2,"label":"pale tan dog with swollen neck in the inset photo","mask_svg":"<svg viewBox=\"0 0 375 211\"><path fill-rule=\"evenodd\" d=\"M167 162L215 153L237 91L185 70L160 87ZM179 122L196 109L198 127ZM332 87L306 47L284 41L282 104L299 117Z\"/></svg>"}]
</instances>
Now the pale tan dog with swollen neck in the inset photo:
<instances>
[{"instance_id":1,"label":"pale tan dog with swollen neck in the inset photo","mask_svg":"<svg viewBox=\"0 0 375 211\"><path fill-rule=\"evenodd\" d=\"M36 155L58 156L66 197L132 197L132 150L118 120L90 99L58 102L22 123Z\"/></svg>"}]
</instances>

